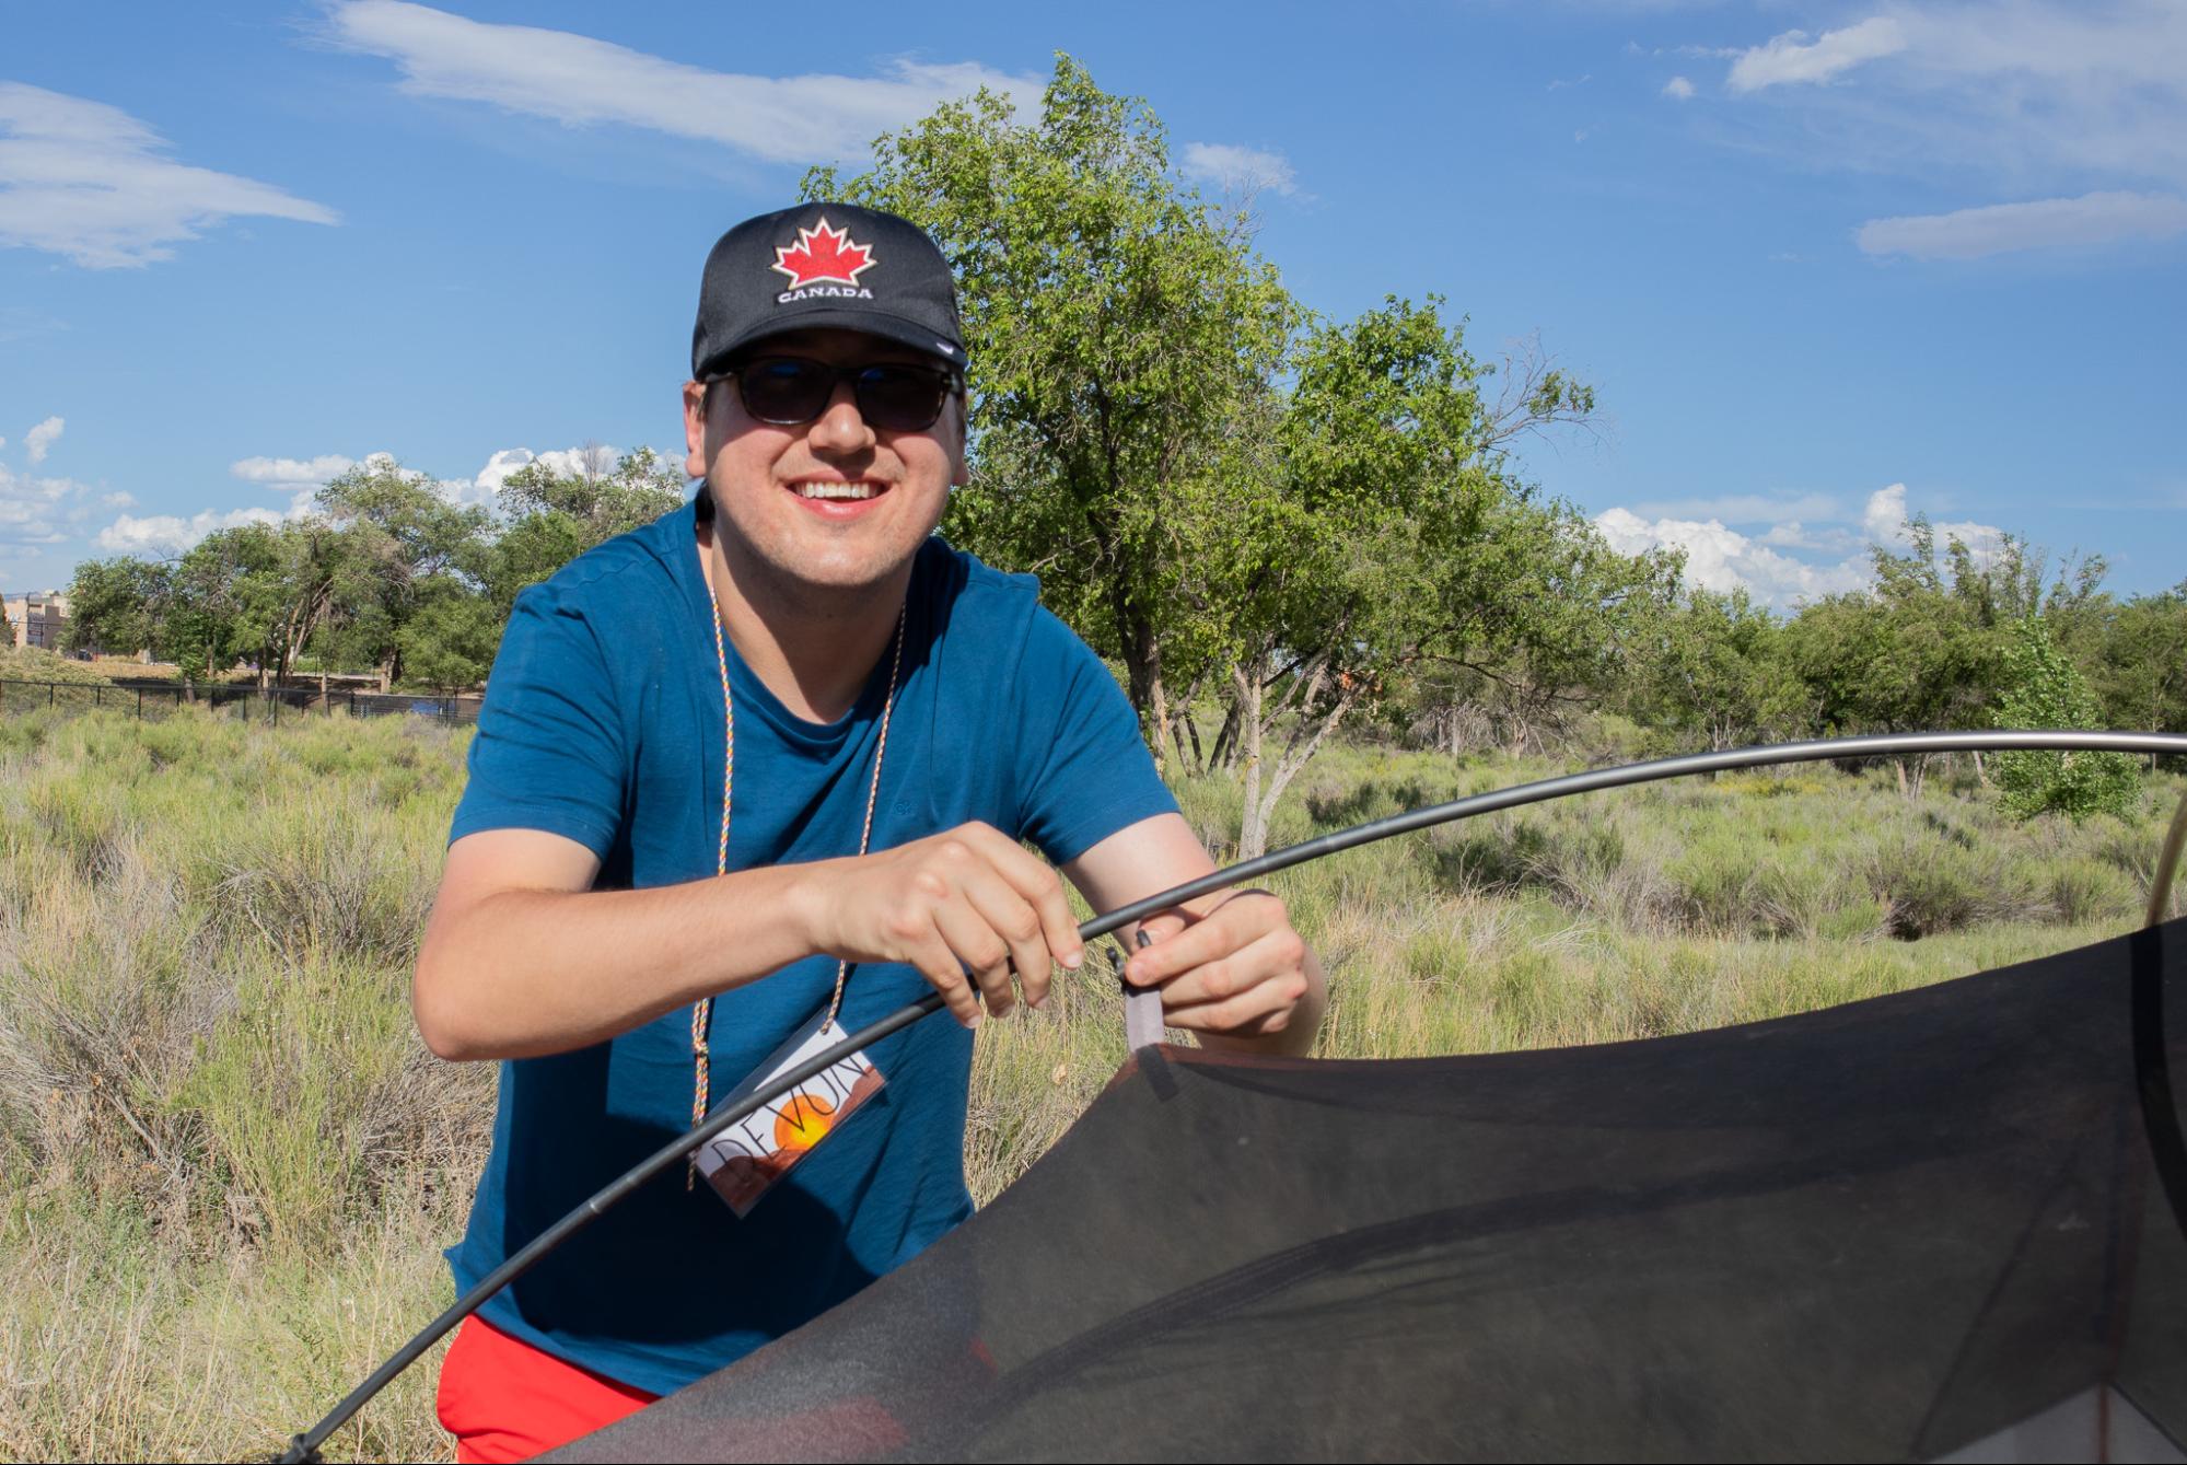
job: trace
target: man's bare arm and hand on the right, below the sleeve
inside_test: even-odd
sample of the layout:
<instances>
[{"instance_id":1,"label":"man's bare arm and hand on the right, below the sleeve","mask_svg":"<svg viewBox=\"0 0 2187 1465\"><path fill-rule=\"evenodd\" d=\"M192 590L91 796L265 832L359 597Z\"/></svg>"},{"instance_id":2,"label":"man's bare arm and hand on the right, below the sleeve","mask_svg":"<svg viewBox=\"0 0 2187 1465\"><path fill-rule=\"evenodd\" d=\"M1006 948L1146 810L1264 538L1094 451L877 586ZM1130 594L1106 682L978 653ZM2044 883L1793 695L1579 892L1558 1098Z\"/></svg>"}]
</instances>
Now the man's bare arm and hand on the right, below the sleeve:
<instances>
[{"instance_id":1,"label":"man's bare arm and hand on the right, below the sleeve","mask_svg":"<svg viewBox=\"0 0 2187 1465\"><path fill-rule=\"evenodd\" d=\"M1115 910L1214 868L1183 816L1159 813L1115 831L1065 875L1094 910ZM1142 925L1150 947L1137 949L1133 931L1122 931L1133 949L1124 980L1161 986L1166 1023L1209 1047L1303 1054L1314 1045L1328 980L1277 896L1218 890Z\"/></svg>"}]
</instances>

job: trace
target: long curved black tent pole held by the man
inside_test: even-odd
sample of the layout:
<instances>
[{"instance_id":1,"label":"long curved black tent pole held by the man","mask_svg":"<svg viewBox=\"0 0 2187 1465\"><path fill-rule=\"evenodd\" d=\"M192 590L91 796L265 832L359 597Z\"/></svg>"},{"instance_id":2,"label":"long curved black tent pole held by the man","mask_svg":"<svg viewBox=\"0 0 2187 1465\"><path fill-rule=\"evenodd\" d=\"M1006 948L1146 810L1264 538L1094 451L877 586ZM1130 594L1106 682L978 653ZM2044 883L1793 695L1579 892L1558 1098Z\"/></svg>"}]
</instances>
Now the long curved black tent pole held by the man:
<instances>
[{"instance_id":1,"label":"long curved black tent pole held by the man","mask_svg":"<svg viewBox=\"0 0 2187 1465\"><path fill-rule=\"evenodd\" d=\"M1104 916L1096 916L1078 927L1080 940L1096 940L1131 925L1133 921L1144 921L1146 916L1159 914L1181 901L1192 901L1216 890L1227 890L1242 881L1255 879L1260 875L1273 875L1275 870L1288 870L1290 866L1306 864L1308 859L1321 859L1323 855L1334 855L1338 851L1358 848L1360 844L1373 844L1376 840L1387 840L1391 835L1411 833L1415 829L1430 829L1435 824L1450 824L1452 820L1474 818L1476 813L1496 813L1500 809L1518 809L1524 805L1548 802L1553 798L1570 798L1572 794L1594 794L1601 789L1623 789L1636 783L1660 783L1664 778L1684 778L1691 774L1715 774L1730 772L1739 767L1767 767L1776 763L1820 763L1826 759L1887 759L1905 754L1927 754L1927 752L2019 752L2019 750L2054 750L2054 752L2145 752L2145 754L2187 754L2187 737L2172 733L1883 733L1874 737L1824 737L1802 743L1771 743L1761 748L1732 748L1728 752L1693 752L1677 759L1656 759L1651 763L1627 763L1623 767L1597 767L1583 774L1566 774L1562 778L1540 778L1535 783L1520 783L1509 789L1496 789L1492 794L1474 794L1472 798L1457 798L1446 805L1430 805L1426 809L1411 809L1406 813L1393 813L1369 824L1356 824L1352 829L1341 829L1317 840L1303 840L1279 851L1271 851L1260 859L1244 859L1229 866L1227 870L1216 870L1214 875L1203 875L1201 879L1185 881L1174 890L1163 890L1161 894L1148 896L1144 901L1133 901L1131 905L1120 905ZM2183 816L2187 818L2187 816ZM2174 824L2178 833L2183 824ZM2167 842L2176 846L2176 840ZM2176 862L2176 848L2172 853ZM2161 901L2156 894L2152 901ZM2161 910L2161 905L2152 905ZM402 1369L418 1362L418 1358L440 1343L457 1323L477 1312L486 1299L505 1288L507 1284L523 1277L527 1270L538 1266L547 1253L566 1242L571 1235L588 1227L601 1211L628 1196L632 1189L654 1179L663 1170L685 1161L691 1150L700 1148L722 1130L726 1130L737 1120L759 1111L776 1093L785 1093L807 1078L822 1074L846 1056L879 1043L881 1039L910 1028L921 1017L929 1012L940 1012L940 993L927 993L919 1001L899 1008L884 1017L881 1021L862 1028L846 1036L835 1047L816 1054L807 1063L783 1074L781 1082L768 1093L755 1093L737 1104L730 1104L687 1135L678 1135L669 1144L660 1146L643 1161L632 1165L619 1179L610 1181L590 1200L580 1205L575 1211L547 1227L531 1244L523 1246L514 1257L488 1273L475 1288L464 1292L455 1303L433 1319L416 1338L405 1343L394 1356L387 1358L378 1369L372 1371L363 1384L350 1391L341 1404L337 1404L326 1419L315 1423L304 1434L295 1434L289 1441L289 1450L280 1454L280 1461L315 1461L319 1458L319 1445L326 1437L350 1421L359 1408L365 1406L372 1395L385 1388ZM2139 1006L2137 1006L2139 1012ZM2156 1030L2163 1032L2161 1028ZM2163 1041L2156 1043L2159 1060L2163 1058ZM2163 1074L2159 1071L2159 1078ZM2143 1085L2145 1093L2148 1082ZM2163 1085L2170 1093L2170 1085ZM2174 1130L2178 1128L2176 1115L2172 1115Z\"/></svg>"}]
</instances>

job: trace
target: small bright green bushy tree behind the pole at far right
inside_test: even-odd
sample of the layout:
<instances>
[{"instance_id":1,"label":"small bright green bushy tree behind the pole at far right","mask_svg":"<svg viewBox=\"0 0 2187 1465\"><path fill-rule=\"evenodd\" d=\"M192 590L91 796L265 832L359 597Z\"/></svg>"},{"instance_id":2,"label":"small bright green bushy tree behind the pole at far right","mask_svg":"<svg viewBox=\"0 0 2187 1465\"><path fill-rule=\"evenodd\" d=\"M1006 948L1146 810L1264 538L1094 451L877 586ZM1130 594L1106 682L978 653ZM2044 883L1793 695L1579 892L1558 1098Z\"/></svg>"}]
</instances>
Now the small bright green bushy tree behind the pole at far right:
<instances>
[{"instance_id":1,"label":"small bright green bushy tree behind the pole at far right","mask_svg":"<svg viewBox=\"0 0 2187 1465\"><path fill-rule=\"evenodd\" d=\"M2005 695L1997 704L1999 728L2100 728L2102 711L2089 684L2051 643L2040 614L2012 625L2005 656ZM1997 792L2008 813L2021 820L2065 813L2132 818L2141 809L2141 781L2124 752L2001 752Z\"/></svg>"}]
</instances>

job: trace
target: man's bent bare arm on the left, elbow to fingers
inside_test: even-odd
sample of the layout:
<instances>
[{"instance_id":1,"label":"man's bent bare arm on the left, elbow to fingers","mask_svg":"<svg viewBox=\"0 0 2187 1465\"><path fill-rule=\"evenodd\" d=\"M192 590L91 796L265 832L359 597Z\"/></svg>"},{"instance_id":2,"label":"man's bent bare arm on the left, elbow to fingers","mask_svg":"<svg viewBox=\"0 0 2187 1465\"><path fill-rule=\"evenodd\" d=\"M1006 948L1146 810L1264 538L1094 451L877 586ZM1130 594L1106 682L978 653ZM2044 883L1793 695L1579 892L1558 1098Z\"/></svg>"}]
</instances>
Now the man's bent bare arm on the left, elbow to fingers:
<instances>
[{"instance_id":1,"label":"man's bent bare arm on the left, elbow to fingers","mask_svg":"<svg viewBox=\"0 0 2187 1465\"><path fill-rule=\"evenodd\" d=\"M986 824L853 859L593 890L599 859L538 829L448 846L411 1008L442 1058L534 1058L606 1041L807 956L916 966L958 1021L1048 993L1083 945L1063 883ZM967 966L971 980L967 980Z\"/></svg>"}]
</instances>

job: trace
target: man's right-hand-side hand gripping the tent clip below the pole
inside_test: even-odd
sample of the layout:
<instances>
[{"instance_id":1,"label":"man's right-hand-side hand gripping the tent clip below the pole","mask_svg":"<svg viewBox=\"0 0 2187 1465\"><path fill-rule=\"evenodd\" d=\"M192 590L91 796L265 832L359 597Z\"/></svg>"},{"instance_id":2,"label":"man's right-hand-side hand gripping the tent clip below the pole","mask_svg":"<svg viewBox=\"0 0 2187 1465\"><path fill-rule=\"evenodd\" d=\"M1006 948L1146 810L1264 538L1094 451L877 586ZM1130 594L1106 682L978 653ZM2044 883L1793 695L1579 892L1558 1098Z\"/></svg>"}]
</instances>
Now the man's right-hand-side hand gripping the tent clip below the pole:
<instances>
[{"instance_id":1,"label":"man's right-hand-side hand gripping the tent clip below the pole","mask_svg":"<svg viewBox=\"0 0 2187 1465\"><path fill-rule=\"evenodd\" d=\"M1161 1019L1203 1039L1303 1052L1321 1026L1321 969L1266 890L1223 896L1207 914L1172 910L1139 925L1124 964L1133 986L1161 988ZM1288 1030L1297 1023L1299 1032ZM1288 1041L1277 1036L1288 1034Z\"/></svg>"}]
</instances>

